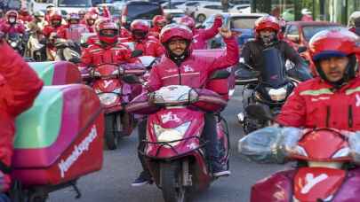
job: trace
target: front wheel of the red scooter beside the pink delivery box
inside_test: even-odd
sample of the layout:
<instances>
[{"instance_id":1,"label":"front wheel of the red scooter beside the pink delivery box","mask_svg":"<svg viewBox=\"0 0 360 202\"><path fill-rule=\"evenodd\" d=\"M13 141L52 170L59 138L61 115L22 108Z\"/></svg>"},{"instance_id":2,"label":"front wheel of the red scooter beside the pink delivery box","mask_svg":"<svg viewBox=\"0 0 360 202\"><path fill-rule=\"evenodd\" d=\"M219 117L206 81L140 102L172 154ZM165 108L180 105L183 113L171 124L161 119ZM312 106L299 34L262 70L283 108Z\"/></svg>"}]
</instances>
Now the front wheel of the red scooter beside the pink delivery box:
<instances>
[{"instance_id":1,"label":"front wheel of the red scooter beside the pink delivery box","mask_svg":"<svg viewBox=\"0 0 360 202\"><path fill-rule=\"evenodd\" d=\"M119 134L116 131L116 114L105 116L105 144L108 150L116 150Z\"/></svg>"}]
</instances>

